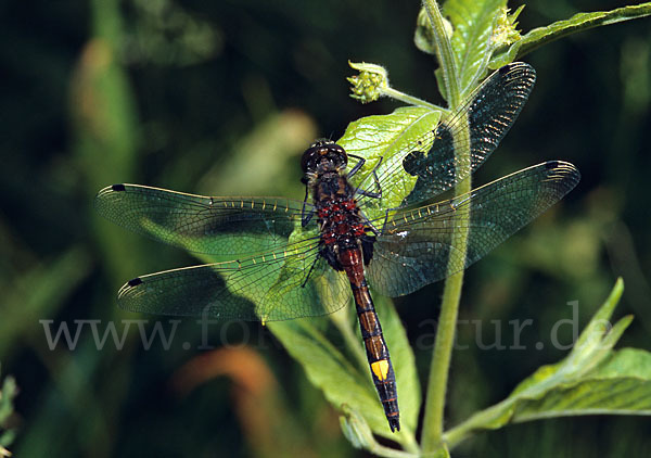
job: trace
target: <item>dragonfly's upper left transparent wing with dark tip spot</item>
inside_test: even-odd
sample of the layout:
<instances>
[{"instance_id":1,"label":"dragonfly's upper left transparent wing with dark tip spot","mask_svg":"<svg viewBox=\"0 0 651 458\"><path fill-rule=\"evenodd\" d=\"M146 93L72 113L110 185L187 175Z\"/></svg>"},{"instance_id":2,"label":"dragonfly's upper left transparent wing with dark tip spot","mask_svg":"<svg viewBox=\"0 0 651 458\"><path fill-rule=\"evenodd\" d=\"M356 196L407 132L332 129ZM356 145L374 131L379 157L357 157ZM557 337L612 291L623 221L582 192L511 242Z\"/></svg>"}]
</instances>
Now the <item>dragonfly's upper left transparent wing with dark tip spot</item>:
<instances>
[{"instance_id":1,"label":"dragonfly's upper left transparent wing with dark tip spot","mask_svg":"<svg viewBox=\"0 0 651 458\"><path fill-rule=\"evenodd\" d=\"M139 185L114 185L94 200L106 219L195 253L224 256L282 250L303 202L281 198L210 198ZM307 211L311 205L307 206ZM311 221L311 226L315 222ZM309 227L308 227L309 229Z\"/></svg>"}]
</instances>

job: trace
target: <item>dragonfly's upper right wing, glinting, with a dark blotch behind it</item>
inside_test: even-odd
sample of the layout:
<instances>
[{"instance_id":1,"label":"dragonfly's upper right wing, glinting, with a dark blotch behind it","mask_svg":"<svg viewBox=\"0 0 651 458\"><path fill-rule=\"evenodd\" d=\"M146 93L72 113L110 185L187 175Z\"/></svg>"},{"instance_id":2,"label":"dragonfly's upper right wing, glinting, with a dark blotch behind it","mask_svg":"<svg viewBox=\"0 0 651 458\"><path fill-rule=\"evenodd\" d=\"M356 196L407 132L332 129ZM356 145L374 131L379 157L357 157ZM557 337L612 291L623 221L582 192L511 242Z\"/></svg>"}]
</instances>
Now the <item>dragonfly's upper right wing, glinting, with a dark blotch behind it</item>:
<instances>
[{"instance_id":1,"label":"dragonfly's upper right wing, glinting, with a dark blotch behind it","mask_svg":"<svg viewBox=\"0 0 651 458\"><path fill-rule=\"evenodd\" d=\"M455 112L444 114L441 123L414 141L386 158L376 170L383 193L404 186L395 174L407 173L417 177L411 192L401 206L431 199L465 179L480 167L509 131L526 103L536 80L534 68L522 62L505 65L473 91L467 102ZM470 133L470 155L457 157L459 141ZM468 147L467 147L468 148ZM373 190L374 178L365 177L360 189ZM360 202L375 206L372 198L360 196Z\"/></svg>"}]
</instances>

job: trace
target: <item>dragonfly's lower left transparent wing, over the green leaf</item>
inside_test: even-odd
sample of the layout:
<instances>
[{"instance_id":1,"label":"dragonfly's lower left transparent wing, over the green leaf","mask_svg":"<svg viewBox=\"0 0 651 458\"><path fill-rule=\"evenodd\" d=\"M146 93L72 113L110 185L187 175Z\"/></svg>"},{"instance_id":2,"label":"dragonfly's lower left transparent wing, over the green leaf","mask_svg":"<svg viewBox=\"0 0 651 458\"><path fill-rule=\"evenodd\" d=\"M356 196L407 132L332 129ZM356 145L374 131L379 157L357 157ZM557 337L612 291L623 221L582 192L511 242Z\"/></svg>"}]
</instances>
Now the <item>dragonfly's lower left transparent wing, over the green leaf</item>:
<instances>
[{"instance_id":1,"label":"dragonfly's lower left transparent wing, over the green leaf","mask_svg":"<svg viewBox=\"0 0 651 458\"><path fill-rule=\"evenodd\" d=\"M335 311L348 302L346 287L345 275L310 243L291 253L138 277L119 290L118 304L146 314L278 321Z\"/></svg>"}]
</instances>

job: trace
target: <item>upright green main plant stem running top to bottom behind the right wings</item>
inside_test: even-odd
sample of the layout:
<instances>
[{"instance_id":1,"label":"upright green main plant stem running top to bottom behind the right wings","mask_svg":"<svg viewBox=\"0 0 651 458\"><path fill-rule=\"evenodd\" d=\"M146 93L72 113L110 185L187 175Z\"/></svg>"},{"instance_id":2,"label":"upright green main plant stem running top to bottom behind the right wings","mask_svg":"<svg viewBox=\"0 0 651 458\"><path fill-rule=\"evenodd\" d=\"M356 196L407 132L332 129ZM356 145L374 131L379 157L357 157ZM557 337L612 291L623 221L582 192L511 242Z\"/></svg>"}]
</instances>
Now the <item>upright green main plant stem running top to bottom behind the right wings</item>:
<instances>
[{"instance_id":1,"label":"upright green main plant stem running top to bottom behind the right wings","mask_svg":"<svg viewBox=\"0 0 651 458\"><path fill-rule=\"evenodd\" d=\"M423 4L434 27L434 41L436 54L441 62L444 82L448 94L449 109L461 103L461 94L457 85L457 71L452 55L449 37L445 30L444 18L434 0L424 0ZM470 132L461 129L454 139L457 164L470 164ZM465 157L464 157L465 156ZM455 188L455 194L460 195L471 190L470 179L461 181ZM451 240L450 258L448 260L448 272L456 271L454 266L458 265L459 258L465 258L468 245L468 218L469 216L455 216L455 232ZM459 257L460 256L460 257ZM436 329L436 345L432 355L430 377L425 397L425 415L423 419L422 451L424 455L434 455L442 451L443 447L443 420L445 412L445 397L447 380L455 341L455 330L461 298L461 287L463 285L463 271L451 275L445 283L441 315Z\"/></svg>"}]
</instances>

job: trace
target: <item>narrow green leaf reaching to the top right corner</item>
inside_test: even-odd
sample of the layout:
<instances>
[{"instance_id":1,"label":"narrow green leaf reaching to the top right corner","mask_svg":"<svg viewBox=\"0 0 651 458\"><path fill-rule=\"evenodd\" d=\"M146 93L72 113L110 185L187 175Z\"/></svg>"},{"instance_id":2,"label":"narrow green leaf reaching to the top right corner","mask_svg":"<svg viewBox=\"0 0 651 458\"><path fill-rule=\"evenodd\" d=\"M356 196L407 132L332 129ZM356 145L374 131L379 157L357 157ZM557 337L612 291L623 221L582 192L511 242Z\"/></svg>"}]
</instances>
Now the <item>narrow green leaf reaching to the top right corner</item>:
<instances>
[{"instance_id":1,"label":"narrow green leaf reaching to the top right corner","mask_svg":"<svg viewBox=\"0 0 651 458\"><path fill-rule=\"evenodd\" d=\"M558 21L546 27L534 28L509 47L496 50L490 60L490 68L499 68L538 47L577 31L587 30L602 25L616 24L622 21L635 20L651 14L651 2L631 7L617 8L612 11L578 13L569 20Z\"/></svg>"}]
</instances>

